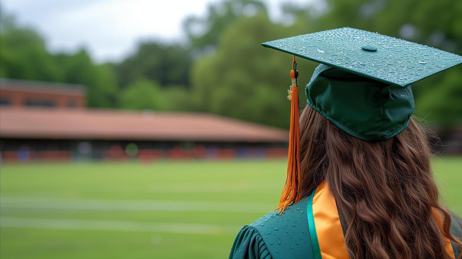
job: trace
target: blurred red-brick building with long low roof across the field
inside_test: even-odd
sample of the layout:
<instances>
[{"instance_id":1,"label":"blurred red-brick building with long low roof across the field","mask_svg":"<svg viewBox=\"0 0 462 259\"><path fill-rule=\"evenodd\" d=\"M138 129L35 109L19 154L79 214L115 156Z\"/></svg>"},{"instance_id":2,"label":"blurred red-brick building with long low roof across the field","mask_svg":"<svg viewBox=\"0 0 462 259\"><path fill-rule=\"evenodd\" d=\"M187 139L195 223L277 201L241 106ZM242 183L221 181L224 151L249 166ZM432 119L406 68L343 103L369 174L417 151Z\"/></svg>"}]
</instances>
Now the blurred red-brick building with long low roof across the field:
<instances>
[{"instance_id":1,"label":"blurred red-brick building with long low roof across the field","mask_svg":"<svg viewBox=\"0 0 462 259\"><path fill-rule=\"evenodd\" d=\"M87 109L84 86L0 79L1 160L283 157L284 129L191 112Z\"/></svg>"}]
</instances>

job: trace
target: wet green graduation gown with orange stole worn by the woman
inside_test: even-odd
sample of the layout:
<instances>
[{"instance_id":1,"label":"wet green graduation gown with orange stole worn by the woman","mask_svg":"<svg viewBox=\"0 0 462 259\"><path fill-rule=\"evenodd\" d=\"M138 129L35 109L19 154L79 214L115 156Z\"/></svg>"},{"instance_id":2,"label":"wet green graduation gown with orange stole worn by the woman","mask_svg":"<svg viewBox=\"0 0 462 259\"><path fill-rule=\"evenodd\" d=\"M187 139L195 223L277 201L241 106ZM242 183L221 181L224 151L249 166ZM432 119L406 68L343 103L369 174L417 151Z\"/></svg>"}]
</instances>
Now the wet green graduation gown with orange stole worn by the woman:
<instances>
[{"instance_id":1,"label":"wet green graduation gown with orange stole worn by the woman","mask_svg":"<svg viewBox=\"0 0 462 259\"><path fill-rule=\"evenodd\" d=\"M333 220L330 220L330 225L329 222L322 222L325 223L322 225L315 222L316 216L323 216L320 216L320 212L316 211L316 202L325 203L325 200L316 199L315 192L316 190L310 197L288 206L285 214L279 215L278 211L272 211L252 224L241 228L234 240L229 259L347 258L344 247L341 249L335 247L336 239L343 241L346 225L342 217L338 216L340 220L338 226L341 225L339 238L336 236L338 232L332 232L332 228L338 228ZM323 213L324 208L321 210ZM460 218L454 215L451 233L462 240L462 229L457 222L460 222ZM332 240L326 242L326 233L328 233L327 238L329 235L333 237ZM323 234L324 237L322 237ZM450 248L451 253L454 253L455 258L457 258L460 253L458 247L452 244ZM447 249L447 251L450 250Z\"/></svg>"}]
</instances>

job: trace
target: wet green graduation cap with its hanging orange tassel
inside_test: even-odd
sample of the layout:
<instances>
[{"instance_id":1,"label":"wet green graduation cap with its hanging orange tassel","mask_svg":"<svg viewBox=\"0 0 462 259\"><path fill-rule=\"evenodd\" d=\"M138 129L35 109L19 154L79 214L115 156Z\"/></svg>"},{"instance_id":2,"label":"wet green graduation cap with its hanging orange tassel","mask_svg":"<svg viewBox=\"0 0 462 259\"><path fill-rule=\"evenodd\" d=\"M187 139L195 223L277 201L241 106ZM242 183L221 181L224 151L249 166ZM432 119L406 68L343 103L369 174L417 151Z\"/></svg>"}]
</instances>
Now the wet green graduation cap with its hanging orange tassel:
<instances>
[{"instance_id":1,"label":"wet green graduation cap with its hanging orange tassel","mask_svg":"<svg viewBox=\"0 0 462 259\"><path fill-rule=\"evenodd\" d=\"M305 88L307 104L346 133L365 141L387 140L406 129L414 112L410 85L462 63L462 57L453 53L349 27L261 45L293 55L289 158L277 207L280 213L299 197L295 56L321 63Z\"/></svg>"}]
</instances>

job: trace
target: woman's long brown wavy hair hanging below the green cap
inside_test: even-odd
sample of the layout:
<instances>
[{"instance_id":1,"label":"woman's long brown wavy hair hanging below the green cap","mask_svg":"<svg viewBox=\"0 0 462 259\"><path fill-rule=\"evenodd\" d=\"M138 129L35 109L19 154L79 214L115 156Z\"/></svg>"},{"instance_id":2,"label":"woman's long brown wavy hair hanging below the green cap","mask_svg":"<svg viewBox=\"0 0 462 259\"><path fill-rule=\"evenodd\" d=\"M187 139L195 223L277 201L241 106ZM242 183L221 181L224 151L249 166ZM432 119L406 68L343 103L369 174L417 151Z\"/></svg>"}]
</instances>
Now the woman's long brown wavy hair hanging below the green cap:
<instances>
[{"instance_id":1,"label":"woman's long brown wavy hair hanging below the green cap","mask_svg":"<svg viewBox=\"0 0 462 259\"><path fill-rule=\"evenodd\" d=\"M462 248L450 234L450 210L438 202L430 158L425 131L413 119L397 136L367 142L309 106L300 117L300 198L327 180L347 225L350 259L453 258L444 237Z\"/></svg>"}]
</instances>

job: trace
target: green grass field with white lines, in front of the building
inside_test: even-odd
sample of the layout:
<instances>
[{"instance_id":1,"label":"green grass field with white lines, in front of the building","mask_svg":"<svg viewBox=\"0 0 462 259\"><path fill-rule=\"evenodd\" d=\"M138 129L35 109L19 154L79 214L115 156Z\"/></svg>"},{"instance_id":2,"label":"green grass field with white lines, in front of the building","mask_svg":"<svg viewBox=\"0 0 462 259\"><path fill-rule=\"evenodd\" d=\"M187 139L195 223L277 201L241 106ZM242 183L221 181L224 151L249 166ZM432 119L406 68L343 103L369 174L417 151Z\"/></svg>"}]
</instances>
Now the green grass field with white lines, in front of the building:
<instances>
[{"instance_id":1,"label":"green grass field with white lines, in front of the building","mask_svg":"<svg viewBox=\"0 0 462 259\"><path fill-rule=\"evenodd\" d=\"M462 157L433 161L462 215ZM2 259L227 258L272 210L286 160L10 164L0 167Z\"/></svg>"}]
</instances>

